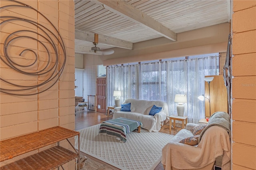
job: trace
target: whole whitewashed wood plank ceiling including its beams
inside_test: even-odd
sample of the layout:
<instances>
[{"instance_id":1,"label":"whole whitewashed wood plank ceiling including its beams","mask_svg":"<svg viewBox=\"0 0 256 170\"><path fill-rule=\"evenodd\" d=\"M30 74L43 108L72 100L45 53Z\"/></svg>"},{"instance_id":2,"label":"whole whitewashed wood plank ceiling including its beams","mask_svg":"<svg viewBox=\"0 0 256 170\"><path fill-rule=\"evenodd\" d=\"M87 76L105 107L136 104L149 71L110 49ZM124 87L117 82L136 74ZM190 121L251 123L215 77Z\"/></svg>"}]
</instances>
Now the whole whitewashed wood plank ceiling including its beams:
<instances>
[{"instance_id":1,"label":"whole whitewashed wood plank ceiling including its beams","mask_svg":"<svg viewBox=\"0 0 256 170\"><path fill-rule=\"evenodd\" d=\"M75 0L75 51L132 44L230 21L229 0ZM98 54L102 54L98 52Z\"/></svg>"}]
</instances>

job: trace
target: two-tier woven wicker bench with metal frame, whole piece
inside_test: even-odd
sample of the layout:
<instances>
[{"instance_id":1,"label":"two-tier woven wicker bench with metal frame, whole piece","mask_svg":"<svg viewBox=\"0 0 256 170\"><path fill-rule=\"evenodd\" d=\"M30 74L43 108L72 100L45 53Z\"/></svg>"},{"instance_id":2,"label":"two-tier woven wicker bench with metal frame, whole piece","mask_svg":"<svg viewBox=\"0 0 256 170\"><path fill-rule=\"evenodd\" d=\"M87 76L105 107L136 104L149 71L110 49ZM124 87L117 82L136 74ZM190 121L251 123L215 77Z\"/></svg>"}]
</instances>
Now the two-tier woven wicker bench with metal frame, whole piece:
<instances>
[{"instance_id":1,"label":"two-tier woven wicker bench with metal frame, whole piece","mask_svg":"<svg viewBox=\"0 0 256 170\"><path fill-rule=\"evenodd\" d=\"M70 137L78 135L78 151L68 140ZM53 146L26 158L22 158L10 164L2 166L1 170L7 169L44 169L53 170L63 164L79 158L80 133L63 127L52 127L38 132L25 134L22 136L0 141L0 161L12 159L15 156L48 146L58 142L58 146ZM59 146L61 140L68 140L75 152ZM79 159L78 159L79 161ZM78 162L80 164L80 162ZM79 167L79 166L78 166Z\"/></svg>"}]
</instances>

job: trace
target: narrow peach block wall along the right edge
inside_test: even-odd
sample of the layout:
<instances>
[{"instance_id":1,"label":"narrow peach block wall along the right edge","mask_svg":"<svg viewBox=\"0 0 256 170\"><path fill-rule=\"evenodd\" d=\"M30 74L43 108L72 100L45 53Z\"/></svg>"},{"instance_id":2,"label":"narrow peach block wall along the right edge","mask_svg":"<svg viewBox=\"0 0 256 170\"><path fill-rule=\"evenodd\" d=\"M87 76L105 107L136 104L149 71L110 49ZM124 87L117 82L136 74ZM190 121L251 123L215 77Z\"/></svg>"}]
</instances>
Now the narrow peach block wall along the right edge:
<instances>
[{"instance_id":1,"label":"narrow peach block wall along the right edge","mask_svg":"<svg viewBox=\"0 0 256 170\"><path fill-rule=\"evenodd\" d=\"M232 169L256 169L256 0L234 0Z\"/></svg>"}]
</instances>

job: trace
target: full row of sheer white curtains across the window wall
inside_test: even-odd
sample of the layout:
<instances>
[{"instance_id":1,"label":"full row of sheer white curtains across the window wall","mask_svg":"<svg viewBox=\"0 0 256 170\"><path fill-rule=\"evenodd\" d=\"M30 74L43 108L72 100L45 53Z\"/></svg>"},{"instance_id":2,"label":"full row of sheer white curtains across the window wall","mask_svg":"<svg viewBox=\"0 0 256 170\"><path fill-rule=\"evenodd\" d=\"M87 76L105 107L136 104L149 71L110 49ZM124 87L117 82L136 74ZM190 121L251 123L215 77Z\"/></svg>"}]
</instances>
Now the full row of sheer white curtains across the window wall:
<instances>
[{"instance_id":1,"label":"full row of sheer white curtains across the window wall","mask_svg":"<svg viewBox=\"0 0 256 170\"><path fill-rule=\"evenodd\" d=\"M198 96L204 94L204 76L218 73L216 57L142 63L108 67L108 106L114 105L114 90L121 91L120 103L125 99L165 101L169 114L177 115L174 97L185 94L184 115L188 122L198 123L205 117L204 101Z\"/></svg>"}]
</instances>

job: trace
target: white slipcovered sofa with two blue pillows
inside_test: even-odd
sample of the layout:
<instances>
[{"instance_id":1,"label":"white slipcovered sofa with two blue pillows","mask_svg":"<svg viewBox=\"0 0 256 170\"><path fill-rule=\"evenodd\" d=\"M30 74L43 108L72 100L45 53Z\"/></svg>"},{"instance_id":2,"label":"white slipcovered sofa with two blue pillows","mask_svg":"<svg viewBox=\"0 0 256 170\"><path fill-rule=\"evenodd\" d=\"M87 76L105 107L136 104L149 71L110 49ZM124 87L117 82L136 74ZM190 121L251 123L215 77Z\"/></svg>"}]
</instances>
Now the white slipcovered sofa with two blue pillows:
<instances>
[{"instance_id":1,"label":"white slipcovered sofa with two blue pillows","mask_svg":"<svg viewBox=\"0 0 256 170\"><path fill-rule=\"evenodd\" d=\"M124 117L140 121L142 123L142 128L147 129L149 132L158 132L161 129L161 125L163 125L166 120L166 117L169 115L168 105L163 101L126 99L123 104L127 103L131 103L131 111L120 111L121 107L116 107L114 109L113 119ZM149 115L153 105L162 107L162 110L154 116Z\"/></svg>"}]
</instances>

